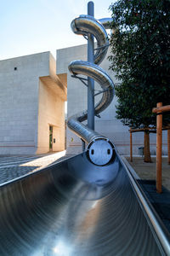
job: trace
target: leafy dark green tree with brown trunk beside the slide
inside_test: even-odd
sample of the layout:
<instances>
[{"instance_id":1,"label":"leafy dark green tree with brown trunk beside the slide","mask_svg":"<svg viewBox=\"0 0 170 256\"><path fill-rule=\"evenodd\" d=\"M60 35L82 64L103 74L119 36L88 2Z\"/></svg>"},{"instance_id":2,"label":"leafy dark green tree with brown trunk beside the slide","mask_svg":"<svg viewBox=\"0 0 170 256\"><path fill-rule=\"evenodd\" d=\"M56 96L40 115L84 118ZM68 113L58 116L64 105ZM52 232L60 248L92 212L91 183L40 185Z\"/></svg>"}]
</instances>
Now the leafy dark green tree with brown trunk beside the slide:
<instances>
[{"instance_id":1,"label":"leafy dark green tree with brown trunk beside the slide","mask_svg":"<svg viewBox=\"0 0 170 256\"><path fill-rule=\"evenodd\" d=\"M170 103L170 1L119 0L110 9L109 60L120 80L116 117L133 128L156 125L151 109ZM168 115L163 122L170 122ZM144 138L144 160L150 161L147 131Z\"/></svg>"}]
</instances>

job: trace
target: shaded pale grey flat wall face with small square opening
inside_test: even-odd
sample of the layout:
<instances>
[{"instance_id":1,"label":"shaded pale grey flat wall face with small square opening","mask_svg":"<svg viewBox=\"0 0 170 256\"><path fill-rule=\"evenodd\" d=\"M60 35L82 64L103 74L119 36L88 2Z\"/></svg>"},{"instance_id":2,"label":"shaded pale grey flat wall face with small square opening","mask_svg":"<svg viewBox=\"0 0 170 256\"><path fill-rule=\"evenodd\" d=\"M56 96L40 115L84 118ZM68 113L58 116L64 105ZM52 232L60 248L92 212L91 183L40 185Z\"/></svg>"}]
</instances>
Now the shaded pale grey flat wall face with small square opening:
<instances>
[{"instance_id":1,"label":"shaded pale grey flat wall face with small square opening","mask_svg":"<svg viewBox=\"0 0 170 256\"><path fill-rule=\"evenodd\" d=\"M48 74L48 56L0 61L0 154L36 153L38 80Z\"/></svg>"}]
</instances>

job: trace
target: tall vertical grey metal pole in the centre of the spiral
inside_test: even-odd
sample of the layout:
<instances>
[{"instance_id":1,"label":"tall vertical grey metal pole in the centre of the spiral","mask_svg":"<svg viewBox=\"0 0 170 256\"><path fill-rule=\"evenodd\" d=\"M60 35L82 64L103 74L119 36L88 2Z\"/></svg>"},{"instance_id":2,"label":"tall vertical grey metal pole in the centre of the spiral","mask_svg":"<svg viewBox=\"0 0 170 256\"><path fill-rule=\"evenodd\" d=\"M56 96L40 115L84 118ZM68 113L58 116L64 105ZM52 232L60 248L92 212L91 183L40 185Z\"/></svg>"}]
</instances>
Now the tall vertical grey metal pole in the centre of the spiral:
<instances>
[{"instance_id":1,"label":"tall vertical grey metal pole in the centre of the spiral","mask_svg":"<svg viewBox=\"0 0 170 256\"><path fill-rule=\"evenodd\" d=\"M88 2L88 15L94 17L94 2ZM94 36L88 34L88 62L94 63ZM88 127L94 130L94 79L88 77Z\"/></svg>"}]
</instances>

